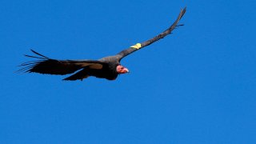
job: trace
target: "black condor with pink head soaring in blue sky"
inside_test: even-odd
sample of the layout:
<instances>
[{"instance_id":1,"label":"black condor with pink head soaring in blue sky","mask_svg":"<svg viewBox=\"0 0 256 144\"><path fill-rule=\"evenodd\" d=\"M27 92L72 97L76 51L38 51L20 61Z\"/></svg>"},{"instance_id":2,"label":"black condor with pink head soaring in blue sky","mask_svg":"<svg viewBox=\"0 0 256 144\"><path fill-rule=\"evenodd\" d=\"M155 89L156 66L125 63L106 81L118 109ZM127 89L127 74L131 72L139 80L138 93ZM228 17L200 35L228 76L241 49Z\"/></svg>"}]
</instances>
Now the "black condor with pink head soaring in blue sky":
<instances>
[{"instance_id":1,"label":"black condor with pink head soaring in blue sky","mask_svg":"<svg viewBox=\"0 0 256 144\"><path fill-rule=\"evenodd\" d=\"M70 77L64 78L63 80L82 80L90 76L96 78L106 78L108 80L114 80L119 74L126 74L129 70L121 65L122 58L127 55L134 53L134 51L140 50L145 46L149 46L153 42L157 42L159 39L166 37L171 34L171 31L178 26L179 20L186 12L186 7L181 10L178 14L178 18L175 22L161 34L158 34L154 38L147 40L146 42L137 43L134 46L130 46L126 50L122 50L114 56L107 56L98 60L57 60L48 58L38 52L31 50L36 56L25 55L26 57L36 58L35 61L22 63L22 71L28 73L39 73L39 74L72 74L77 72Z\"/></svg>"}]
</instances>

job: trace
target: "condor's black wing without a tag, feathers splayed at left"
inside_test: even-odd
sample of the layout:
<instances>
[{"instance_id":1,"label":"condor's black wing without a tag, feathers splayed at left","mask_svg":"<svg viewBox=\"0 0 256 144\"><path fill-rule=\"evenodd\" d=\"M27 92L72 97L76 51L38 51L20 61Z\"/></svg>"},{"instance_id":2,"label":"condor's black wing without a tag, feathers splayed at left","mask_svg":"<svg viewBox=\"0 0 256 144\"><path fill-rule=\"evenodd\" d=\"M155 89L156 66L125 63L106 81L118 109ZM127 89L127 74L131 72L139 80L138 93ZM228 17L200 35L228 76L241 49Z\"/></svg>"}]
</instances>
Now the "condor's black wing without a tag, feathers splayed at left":
<instances>
[{"instance_id":1,"label":"condor's black wing without a tag, feathers splayed at left","mask_svg":"<svg viewBox=\"0 0 256 144\"><path fill-rule=\"evenodd\" d=\"M71 74L84 67L90 69L102 69L104 63L94 60L56 60L47 58L46 56L39 54L38 52L31 50L36 56L25 55L30 58L37 58L35 61L22 63L22 69L18 71L24 71L28 73L40 73L40 74Z\"/></svg>"}]
</instances>

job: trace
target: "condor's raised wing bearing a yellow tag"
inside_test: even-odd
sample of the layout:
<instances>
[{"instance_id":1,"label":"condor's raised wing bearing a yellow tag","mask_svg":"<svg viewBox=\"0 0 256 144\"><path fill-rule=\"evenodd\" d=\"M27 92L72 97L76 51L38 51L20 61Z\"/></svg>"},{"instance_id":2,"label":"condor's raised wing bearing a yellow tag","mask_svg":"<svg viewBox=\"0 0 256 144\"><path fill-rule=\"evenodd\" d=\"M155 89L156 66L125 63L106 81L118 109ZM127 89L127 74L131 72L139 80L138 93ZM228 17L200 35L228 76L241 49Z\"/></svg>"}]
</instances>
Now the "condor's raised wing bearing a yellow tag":
<instances>
[{"instance_id":1,"label":"condor's raised wing bearing a yellow tag","mask_svg":"<svg viewBox=\"0 0 256 144\"><path fill-rule=\"evenodd\" d=\"M147 40L146 42L137 43L134 46L130 46L126 50L122 50L120 53L117 54L119 61L122 58L126 57L126 55L131 54L134 51L141 49L142 47L149 46L151 43L156 42L159 39L166 37L166 35L170 34L171 31L174 30L177 26L182 26L182 25L178 25L178 22L185 13L186 13L186 7L181 10L181 12L178 14L178 18L176 19L176 21L167 30L163 31L161 34L158 34L154 38Z\"/></svg>"}]
</instances>

